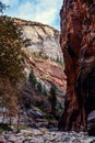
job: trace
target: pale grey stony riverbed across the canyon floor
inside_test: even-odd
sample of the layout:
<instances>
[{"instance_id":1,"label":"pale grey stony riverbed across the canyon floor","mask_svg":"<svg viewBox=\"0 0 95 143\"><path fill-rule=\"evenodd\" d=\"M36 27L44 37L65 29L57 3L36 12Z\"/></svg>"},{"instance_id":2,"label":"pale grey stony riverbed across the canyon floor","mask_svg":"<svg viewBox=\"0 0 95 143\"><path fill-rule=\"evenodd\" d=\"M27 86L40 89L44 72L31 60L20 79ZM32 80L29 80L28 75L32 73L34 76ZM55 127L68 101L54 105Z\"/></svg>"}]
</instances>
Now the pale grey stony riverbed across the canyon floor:
<instances>
[{"instance_id":1,"label":"pale grey stony riverbed across the canyon floor","mask_svg":"<svg viewBox=\"0 0 95 143\"><path fill-rule=\"evenodd\" d=\"M26 129L20 133L3 132L0 143L95 143L95 136L86 132L59 132L47 129Z\"/></svg>"}]
</instances>

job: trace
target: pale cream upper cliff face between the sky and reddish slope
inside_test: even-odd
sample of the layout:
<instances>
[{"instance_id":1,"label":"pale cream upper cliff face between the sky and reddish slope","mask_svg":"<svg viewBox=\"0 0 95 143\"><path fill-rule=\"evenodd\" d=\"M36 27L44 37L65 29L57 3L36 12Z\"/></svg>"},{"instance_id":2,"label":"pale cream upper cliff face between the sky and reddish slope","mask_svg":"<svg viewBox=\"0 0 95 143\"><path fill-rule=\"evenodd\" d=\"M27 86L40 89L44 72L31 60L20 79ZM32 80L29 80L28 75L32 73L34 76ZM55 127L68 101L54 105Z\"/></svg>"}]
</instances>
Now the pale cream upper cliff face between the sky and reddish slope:
<instances>
[{"instance_id":1,"label":"pale cream upper cliff face between the sky and reddish slope","mask_svg":"<svg viewBox=\"0 0 95 143\"><path fill-rule=\"evenodd\" d=\"M45 52L48 58L63 61L59 44L60 32L49 25L38 22L14 19L14 22L22 26L23 38L29 40L27 50L32 53Z\"/></svg>"}]
</instances>

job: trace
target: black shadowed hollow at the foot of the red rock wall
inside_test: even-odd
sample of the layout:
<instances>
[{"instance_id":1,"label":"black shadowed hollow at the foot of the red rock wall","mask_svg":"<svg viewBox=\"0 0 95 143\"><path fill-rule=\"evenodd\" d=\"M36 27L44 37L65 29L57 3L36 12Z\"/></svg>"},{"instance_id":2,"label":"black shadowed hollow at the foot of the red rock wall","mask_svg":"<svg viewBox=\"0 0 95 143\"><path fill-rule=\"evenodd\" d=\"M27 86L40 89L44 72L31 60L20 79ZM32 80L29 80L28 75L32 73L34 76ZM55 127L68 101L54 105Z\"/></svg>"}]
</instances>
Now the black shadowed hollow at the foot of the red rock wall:
<instances>
[{"instance_id":1,"label":"black shadowed hollow at the foot of the red rock wall","mask_svg":"<svg viewBox=\"0 0 95 143\"><path fill-rule=\"evenodd\" d=\"M84 108L90 135L95 135L95 67L83 81Z\"/></svg>"}]
</instances>

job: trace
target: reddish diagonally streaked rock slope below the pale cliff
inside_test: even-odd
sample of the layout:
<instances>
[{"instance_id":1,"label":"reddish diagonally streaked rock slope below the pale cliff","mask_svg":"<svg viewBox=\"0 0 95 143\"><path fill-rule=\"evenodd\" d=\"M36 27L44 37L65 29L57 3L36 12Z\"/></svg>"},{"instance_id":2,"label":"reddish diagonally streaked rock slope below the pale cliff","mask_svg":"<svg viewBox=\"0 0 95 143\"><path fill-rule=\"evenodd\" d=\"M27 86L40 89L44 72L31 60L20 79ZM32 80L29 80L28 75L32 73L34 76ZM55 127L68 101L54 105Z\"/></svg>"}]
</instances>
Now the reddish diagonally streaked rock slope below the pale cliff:
<instances>
[{"instance_id":1,"label":"reddish diagonally streaked rock slope below the pale cliff","mask_svg":"<svg viewBox=\"0 0 95 143\"><path fill-rule=\"evenodd\" d=\"M31 73L31 69L33 69L37 80L39 80L43 86L46 86L47 91L50 90L52 85L56 85L56 88L60 91L58 95L64 95L67 88L67 77L63 73L62 66L48 59L32 58L29 53L26 56L25 64L25 72L27 76Z\"/></svg>"}]
</instances>

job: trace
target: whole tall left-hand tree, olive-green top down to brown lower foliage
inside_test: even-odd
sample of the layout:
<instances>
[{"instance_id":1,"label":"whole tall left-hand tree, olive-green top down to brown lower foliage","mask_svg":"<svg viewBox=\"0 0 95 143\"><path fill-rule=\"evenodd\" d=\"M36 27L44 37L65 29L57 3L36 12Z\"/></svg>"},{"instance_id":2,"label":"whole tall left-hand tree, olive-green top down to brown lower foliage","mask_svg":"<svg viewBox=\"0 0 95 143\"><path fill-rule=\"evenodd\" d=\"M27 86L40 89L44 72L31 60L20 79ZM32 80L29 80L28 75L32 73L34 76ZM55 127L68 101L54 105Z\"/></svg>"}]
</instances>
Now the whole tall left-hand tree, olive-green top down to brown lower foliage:
<instances>
[{"instance_id":1,"label":"whole tall left-hand tree, olive-green top down to brown lower foliage","mask_svg":"<svg viewBox=\"0 0 95 143\"><path fill-rule=\"evenodd\" d=\"M24 53L21 30L13 20L0 16L0 102L11 117L19 112L20 86L24 77Z\"/></svg>"}]
</instances>

